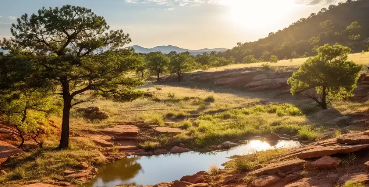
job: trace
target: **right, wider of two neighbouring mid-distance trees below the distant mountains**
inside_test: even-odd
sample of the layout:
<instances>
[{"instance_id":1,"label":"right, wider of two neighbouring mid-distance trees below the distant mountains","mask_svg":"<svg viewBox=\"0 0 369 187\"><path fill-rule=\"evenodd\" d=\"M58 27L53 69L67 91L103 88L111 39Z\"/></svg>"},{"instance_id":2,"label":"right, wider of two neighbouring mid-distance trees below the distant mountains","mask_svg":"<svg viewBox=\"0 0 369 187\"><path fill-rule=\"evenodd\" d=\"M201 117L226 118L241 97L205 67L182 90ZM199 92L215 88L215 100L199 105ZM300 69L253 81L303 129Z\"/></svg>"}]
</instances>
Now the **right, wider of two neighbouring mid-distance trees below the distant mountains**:
<instances>
[{"instance_id":1,"label":"right, wider of two neighbouring mid-distance trees below the distant mountains","mask_svg":"<svg viewBox=\"0 0 369 187\"><path fill-rule=\"evenodd\" d=\"M196 61L185 54L177 54L170 57L169 72L176 73L178 81L182 81L183 73L192 71L196 66Z\"/></svg>"}]
</instances>

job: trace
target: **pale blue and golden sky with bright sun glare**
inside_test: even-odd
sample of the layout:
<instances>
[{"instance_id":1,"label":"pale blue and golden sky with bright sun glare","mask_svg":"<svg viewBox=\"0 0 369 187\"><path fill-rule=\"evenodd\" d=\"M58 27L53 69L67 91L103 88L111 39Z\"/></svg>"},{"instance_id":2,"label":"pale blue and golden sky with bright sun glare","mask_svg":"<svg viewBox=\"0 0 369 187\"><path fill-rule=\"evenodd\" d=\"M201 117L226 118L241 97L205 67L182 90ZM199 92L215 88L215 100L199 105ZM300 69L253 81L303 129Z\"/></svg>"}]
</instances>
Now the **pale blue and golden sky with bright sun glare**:
<instances>
[{"instance_id":1,"label":"pale blue and golden sky with bright sun glare","mask_svg":"<svg viewBox=\"0 0 369 187\"><path fill-rule=\"evenodd\" d=\"M24 13L65 4L103 16L111 29L123 29L135 44L173 45L190 50L232 48L288 27L300 18L343 0L0 0L0 38Z\"/></svg>"}]
</instances>

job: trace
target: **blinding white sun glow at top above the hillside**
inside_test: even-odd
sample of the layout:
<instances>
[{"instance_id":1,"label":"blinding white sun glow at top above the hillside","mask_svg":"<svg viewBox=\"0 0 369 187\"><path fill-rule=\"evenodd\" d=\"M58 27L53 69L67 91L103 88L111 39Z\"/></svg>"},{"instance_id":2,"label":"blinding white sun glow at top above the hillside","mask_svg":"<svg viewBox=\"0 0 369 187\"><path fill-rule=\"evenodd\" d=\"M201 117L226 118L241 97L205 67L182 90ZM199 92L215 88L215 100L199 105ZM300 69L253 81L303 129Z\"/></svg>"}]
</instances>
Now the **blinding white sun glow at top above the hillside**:
<instances>
[{"instance_id":1,"label":"blinding white sun glow at top above the hillside","mask_svg":"<svg viewBox=\"0 0 369 187\"><path fill-rule=\"evenodd\" d=\"M218 3L229 6L230 19L245 29L280 25L298 6L294 0L219 0Z\"/></svg>"}]
</instances>

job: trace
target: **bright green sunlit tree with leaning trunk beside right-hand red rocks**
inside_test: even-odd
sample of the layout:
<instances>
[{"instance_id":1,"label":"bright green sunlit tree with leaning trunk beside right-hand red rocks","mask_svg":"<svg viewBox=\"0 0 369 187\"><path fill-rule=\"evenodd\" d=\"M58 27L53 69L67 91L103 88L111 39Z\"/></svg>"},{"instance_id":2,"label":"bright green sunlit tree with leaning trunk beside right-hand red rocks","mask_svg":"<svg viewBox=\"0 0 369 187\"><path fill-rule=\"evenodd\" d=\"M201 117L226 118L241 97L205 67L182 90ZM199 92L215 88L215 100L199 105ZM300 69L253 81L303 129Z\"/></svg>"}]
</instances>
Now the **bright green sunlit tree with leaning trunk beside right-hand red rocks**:
<instances>
[{"instance_id":1,"label":"bright green sunlit tree with leaning trunk beside right-hand red rocks","mask_svg":"<svg viewBox=\"0 0 369 187\"><path fill-rule=\"evenodd\" d=\"M315 100L323 109L327 109L327 99L352 96L361 65L347 60L350 51L351 48L339 44L334 46L325 44L319 47L318 55L308 58L288 79L291 93L296 94L315 88L320 96L307 95L307 97Z\"/></svg>"}]
</instances>

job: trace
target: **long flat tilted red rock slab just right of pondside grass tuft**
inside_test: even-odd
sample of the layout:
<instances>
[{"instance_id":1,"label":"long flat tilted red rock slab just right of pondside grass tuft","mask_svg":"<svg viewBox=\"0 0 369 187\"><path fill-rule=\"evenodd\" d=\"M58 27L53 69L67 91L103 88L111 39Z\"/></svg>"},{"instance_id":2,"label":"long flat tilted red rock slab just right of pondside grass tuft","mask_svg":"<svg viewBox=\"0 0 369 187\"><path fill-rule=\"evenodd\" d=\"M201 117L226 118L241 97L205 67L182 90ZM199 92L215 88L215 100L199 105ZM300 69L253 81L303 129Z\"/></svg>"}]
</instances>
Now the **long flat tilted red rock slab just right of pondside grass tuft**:
<instances>
[{"instance_id":1,"label":"long flat tilted red rock slab just right of pondside grass tuft","mask_svg":"<svg viewBox=\"0 0 369 187\"><path fill-rule=\"evenodd\" d=\"M277 174L279 171L282 171L282 172L289 171L295 168L296 166L301 166L305 163L307 163L307 161L304 161L301 159L293 159L289 161L270 163L263 168L249 172L248 175L251 175L251 176L252 175L261 176L261 175L268 175L268 174L273 175L273 174Z\"/></svg>"}]
</instances>

